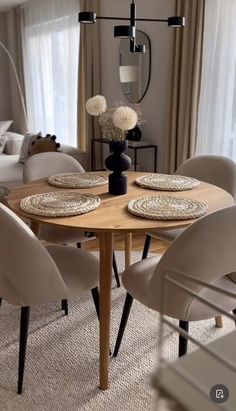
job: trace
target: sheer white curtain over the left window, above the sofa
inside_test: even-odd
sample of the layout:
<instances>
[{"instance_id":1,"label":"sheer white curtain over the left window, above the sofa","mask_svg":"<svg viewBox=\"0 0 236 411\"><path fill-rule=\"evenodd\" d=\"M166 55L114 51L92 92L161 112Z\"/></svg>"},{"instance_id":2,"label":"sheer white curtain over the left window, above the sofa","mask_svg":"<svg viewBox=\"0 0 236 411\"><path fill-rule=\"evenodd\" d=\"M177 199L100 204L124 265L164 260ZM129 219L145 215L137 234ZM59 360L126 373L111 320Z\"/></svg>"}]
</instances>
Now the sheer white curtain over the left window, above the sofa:
<instances>
[{"instance_id":1,"label":"sheer white curtain over the left window, above the sofa","mask_svg":"<svg viewBox=\"0 0 236 411\"><path fill-rule=\"evenodd\" d=\"M29 128L77 145L79 0L23 5L23 57Z\"/></svg>"}]
</instances>

